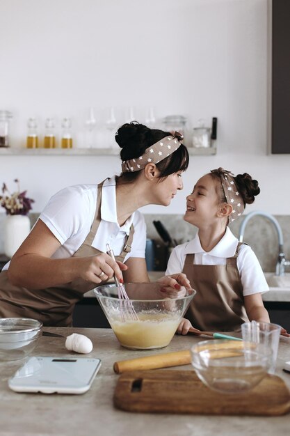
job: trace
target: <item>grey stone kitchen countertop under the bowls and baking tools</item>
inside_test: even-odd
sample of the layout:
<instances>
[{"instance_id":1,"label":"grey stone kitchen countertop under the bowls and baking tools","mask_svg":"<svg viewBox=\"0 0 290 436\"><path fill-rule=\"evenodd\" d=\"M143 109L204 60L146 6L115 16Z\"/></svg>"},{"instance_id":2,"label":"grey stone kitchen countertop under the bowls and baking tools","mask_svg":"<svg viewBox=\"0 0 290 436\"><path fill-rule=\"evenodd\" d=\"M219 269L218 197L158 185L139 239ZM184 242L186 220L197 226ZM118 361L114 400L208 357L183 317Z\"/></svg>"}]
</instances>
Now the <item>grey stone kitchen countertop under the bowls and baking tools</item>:
<instances>
[{"instance_id":1,"label":"grey stone kitchen countertop under the bowls and baking tools","mask_svg":"<svg viewBox=\"0 0 290 436\"><path fill-rule=\"evenodd\" d=\"M122 348L111 329L46 327L45 330L63 336L73 332L85 334L92 340L94 346L86 357L102 359L102 366L92 387L83 395L17 394L10 391L7 382L8 378L22 366L23 361L0 362L0 435L273 436L289 433L289 414L275 417L141 414L122 412L113 407L113 391L118 380L118 375L113 372L115 361L186 350L200 340L195 336L174 336L168 347L145 352ZM33 355L76 356L75 353L67 352L65 349L65 338L48 336L40 338ZM85 357L85 355L77 356ZM276 373L290 388L290 375L282 371L282 362L286 360L290 360L290 341L282 339ZM178 369L189 370L191 366L179 366Z\"/></svg>"}]
</instances>

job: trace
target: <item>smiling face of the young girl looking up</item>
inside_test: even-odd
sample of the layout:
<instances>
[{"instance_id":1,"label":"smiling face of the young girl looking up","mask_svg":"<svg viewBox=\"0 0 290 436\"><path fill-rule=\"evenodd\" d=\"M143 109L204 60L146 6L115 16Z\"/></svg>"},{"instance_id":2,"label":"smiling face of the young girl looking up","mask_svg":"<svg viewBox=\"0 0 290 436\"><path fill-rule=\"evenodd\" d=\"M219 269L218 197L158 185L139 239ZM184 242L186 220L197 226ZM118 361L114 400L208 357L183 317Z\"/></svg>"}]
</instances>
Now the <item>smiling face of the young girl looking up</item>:
<instances>
[{"instance_id":1,"label":"smiling face of the young girl looking up","mask_svg":"<svg viewBox=\"0 0 290 436\"><path fill-rule=\"evenodd\" d=\"M193 192L186 197L186 213L184 221L194 226L210 226L218 218L220 197L216 181L206 174L193 188Z\"/></svg>"}]
</instances>

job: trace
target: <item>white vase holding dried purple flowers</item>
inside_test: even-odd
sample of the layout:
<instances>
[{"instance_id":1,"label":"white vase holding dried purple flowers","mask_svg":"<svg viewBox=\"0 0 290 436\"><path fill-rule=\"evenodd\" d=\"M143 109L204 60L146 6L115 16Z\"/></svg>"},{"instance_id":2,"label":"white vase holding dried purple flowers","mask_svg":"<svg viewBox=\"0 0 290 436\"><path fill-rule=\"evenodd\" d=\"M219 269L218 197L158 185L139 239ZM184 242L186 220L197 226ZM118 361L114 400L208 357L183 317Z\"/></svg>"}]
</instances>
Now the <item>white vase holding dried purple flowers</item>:
<instances>
[{"instance_id":1,"label":"white vase holding dried purple flowers","mask_svg":"<svg viewBox=\"0 0 290 436\"><path fill-rule=\"evenodd\" d=\"M4 228L4 254L12 257L30 232L30 219L26 215L7 215Z\"/></svg>"}]
</instances>

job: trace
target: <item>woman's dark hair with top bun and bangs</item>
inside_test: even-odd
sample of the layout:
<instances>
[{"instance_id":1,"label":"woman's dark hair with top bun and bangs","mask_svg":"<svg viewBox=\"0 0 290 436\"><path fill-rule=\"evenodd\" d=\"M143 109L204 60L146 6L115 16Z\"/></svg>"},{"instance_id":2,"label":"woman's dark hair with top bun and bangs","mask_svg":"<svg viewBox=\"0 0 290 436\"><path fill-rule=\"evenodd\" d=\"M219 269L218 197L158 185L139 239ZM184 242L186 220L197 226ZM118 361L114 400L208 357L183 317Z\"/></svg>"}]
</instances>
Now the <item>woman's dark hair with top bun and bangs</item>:
<instances>
[{"instance_id":1,"label":"woman's dark hair with top bun and bangs","mask_svg":"<svg viewBox=\"0 0 290 436\"><path fill-rule=\"evenodd\" d=\"M171 135L170 132L163 132L159 129L150 129L149 127L139 124L136 121L122 125L115 135L115 141L122 148L120 157L122 160L134 159L145 153L146 148L161 139ZM189 156L186 146L183 144L171 155L161 160L156 167L160 171L159 178L166 178L170 174L178 171L186 171L188 167ZM122 173L120 178L127 182L133 181L139 176L139 171L133 173Z\"/></svg>"}]
</instances>

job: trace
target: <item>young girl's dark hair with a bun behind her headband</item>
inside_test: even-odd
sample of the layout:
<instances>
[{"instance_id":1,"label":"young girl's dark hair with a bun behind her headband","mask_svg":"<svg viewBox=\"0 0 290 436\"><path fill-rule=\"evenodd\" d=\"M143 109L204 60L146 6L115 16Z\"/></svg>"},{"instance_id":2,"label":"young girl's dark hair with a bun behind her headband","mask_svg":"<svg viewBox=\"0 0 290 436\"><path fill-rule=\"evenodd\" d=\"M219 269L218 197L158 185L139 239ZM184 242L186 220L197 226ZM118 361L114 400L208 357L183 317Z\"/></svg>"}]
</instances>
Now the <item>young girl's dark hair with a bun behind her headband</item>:
<instances>
[{"instance_id":1,"label":"young girl's dark hair with a bun behind her headband","mask_svg":"<svg viewBox=\"0 0 290 436\"><path fill-rule=\"evenodd\" d=\"M223 173L223 168L218 168L217 170L209 173L215 180L218 180L219 194L221 203L227 203L227 198L225 198L225 193L223 192L223 186L220 181L220 173ZM243 173L238 174L233 177L236 187L243 198L243 206L246 204L252 204L255 201L255 196L260 193L259 183L257 180L252 179L250 174Z\"/></svg>"}]
</instances>

